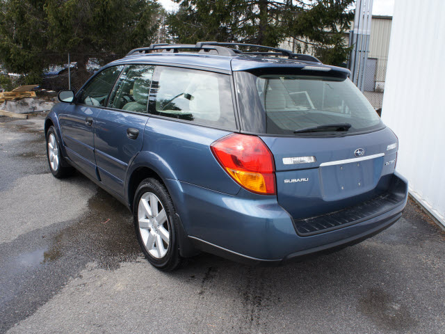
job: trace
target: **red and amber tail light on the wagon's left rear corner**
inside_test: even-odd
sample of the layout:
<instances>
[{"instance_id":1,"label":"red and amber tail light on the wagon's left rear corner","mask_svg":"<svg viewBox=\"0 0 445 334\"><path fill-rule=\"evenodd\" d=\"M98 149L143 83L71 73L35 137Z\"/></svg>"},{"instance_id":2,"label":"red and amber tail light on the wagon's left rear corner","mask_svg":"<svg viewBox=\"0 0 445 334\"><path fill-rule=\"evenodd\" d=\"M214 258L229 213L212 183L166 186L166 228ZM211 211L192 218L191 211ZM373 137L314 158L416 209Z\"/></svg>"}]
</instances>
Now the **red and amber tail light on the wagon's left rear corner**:
<instances>
[{"instance_id":1,"label":"red and amber tail light on the wagon's left rear corner","mask_svg":"<svg viewBox=\"0 0 445 334\"><path fill-rule=\"evenodd\" d=\"M262 195L275 195L273 155L257 136L230 134L210 145L213 155L243 188Z\"/></svg>"}]
</instances>

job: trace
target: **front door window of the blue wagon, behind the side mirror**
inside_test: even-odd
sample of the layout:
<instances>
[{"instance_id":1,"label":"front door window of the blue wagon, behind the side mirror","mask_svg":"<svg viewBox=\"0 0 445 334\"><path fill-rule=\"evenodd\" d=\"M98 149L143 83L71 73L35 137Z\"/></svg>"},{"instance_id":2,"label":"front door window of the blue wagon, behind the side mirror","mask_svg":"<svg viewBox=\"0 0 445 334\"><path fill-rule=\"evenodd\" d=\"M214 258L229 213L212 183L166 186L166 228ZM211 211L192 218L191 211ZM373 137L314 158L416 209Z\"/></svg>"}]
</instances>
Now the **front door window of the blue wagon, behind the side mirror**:
<instances>
[{"instance_id":1,"label":"front door window of the blue wagon, behind the side mirror","mask_svg":"<svg viewBox=\"0 0 445 334\"><path fill-rule=\"evenodd\" d=\"M88 106L105 106L106 98L113 89L114 83L124 66L108 67L96 74L94 78L83 88L77 103Z\"/></svg>"}]
</instances>

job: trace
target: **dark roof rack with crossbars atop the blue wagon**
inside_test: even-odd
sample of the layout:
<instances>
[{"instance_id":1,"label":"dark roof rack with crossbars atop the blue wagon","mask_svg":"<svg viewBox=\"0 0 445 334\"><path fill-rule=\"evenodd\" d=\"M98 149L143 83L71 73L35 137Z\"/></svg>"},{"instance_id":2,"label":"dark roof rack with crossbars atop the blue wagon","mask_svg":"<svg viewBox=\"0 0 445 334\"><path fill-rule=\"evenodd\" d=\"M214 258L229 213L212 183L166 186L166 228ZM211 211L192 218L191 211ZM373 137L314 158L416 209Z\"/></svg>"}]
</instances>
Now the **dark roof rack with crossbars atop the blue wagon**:
<instances>
[{"instance_id":1,"label":"dark roof rack with crossbars atop the blue wagon","mask_svg":"<svg viewBox=\"0 0 445 334\"><path fill-rule=\"evenodd\" d=\"M230 47L257 47L260 49L267 49L270 51L260 52L260 51L241 51L240 49L232 49ZM178 53L179 49L192 49L200 53L211 53L219 54L220 56L236 56L237 54L245 54L251 56L286 56L289 59L297 59L299 61L312 61L315 63L321 63L314 56L309 56L307 54L293 54L292 51L281 49L279 47L268 47L266 45L255 45L255 44L245 44L245 43L232 43L232 42L197 42L193 44L168 44L159 43L152 44L149 47L140 47L138 49L133 49L129 51L127 56L135 54L150 54L154 50L163 50L163 52ZM127 57L126 56L126 57Z\"/></svg>"}]
</instances>

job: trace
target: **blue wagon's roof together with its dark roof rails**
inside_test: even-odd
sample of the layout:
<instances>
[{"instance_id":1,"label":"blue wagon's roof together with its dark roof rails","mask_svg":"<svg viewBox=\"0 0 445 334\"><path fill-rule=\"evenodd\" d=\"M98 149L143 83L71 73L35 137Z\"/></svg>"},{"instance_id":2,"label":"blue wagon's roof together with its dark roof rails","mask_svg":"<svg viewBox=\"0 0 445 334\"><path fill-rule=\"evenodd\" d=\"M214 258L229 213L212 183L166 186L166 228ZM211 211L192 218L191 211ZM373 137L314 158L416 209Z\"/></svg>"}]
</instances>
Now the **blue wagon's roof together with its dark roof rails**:
<instances>
[{"instance_id":1,"label":"blue wagon's roof together with its dark roof rails","mask_svg":"<svg viewBox=\"0 0 445 334\"><path fill-rule=\"evenodd\" d=\"M293 54L289 50L264 47L262 45L247 45L265 48L269 52L242 52L229 49L224 45L243 45L239 43L198 42L197 45L150 45L147 48L134 49L124 58L109 65L124 65L129 63L152 63L159 65L181 65L191 67L207 67L209 70L221 72L246 71L264 67L307 67L327 71L343 72L349 70L343 67L325 65L317 58L302 54ZM193 49L198 52L179 52L180 49ZM156 51L155 51L156 50ZM272 50L273 52L270 52ZM281 56L281 58L277 57ZM286 56L286 58L282 58Z\"/></svg>"}]
</instances>

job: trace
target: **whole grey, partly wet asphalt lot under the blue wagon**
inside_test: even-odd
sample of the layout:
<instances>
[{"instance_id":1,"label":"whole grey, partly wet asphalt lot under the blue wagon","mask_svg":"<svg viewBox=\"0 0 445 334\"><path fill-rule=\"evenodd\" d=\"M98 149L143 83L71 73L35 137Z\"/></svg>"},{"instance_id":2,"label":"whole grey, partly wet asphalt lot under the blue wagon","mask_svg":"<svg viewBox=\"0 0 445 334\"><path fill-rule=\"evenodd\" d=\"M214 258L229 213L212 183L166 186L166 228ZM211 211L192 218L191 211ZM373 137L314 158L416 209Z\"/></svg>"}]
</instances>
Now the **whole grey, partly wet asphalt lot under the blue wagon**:
<instances>
[{"instance_id":1,"label":"whole grey, partly wet asphalt lot under the blue wagon","mask_svg":"<svg viewBox=\"0 0 445 334\"><path fill-rule=\"evenodd\" d=\"M0 118L0 333L445 333L445 234L409 202L385 232L279 268L143 259L131 214L49 173L42 116Z\"/></svg>"}]
</instances>

